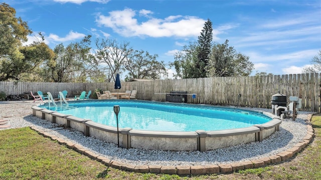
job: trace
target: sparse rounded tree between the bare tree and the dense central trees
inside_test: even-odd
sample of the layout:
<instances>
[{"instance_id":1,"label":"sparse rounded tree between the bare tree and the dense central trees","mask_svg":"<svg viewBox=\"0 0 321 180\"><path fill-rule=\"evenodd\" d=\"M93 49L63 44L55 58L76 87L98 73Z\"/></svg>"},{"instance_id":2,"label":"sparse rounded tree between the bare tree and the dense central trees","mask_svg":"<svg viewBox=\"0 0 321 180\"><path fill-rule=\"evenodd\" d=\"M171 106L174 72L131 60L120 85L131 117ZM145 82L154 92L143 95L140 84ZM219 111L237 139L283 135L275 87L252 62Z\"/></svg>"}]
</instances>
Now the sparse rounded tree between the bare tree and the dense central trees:
<instances>
[{"instance_id":1,"label":"sparse rounded tree between the bare tree and the dense central trees","mask_svg":"<svg viewBox=\"0 0 321 180\"><path fill-rule=\"evenodd\" d=\"M167 75L168 72L164 61L157 61L157 54L151 55L147 51L135 50L124 61L124 68L129 71L125 80L131 78L140 79L159 79L161 75Z\"/></svg>"}]
</instances>

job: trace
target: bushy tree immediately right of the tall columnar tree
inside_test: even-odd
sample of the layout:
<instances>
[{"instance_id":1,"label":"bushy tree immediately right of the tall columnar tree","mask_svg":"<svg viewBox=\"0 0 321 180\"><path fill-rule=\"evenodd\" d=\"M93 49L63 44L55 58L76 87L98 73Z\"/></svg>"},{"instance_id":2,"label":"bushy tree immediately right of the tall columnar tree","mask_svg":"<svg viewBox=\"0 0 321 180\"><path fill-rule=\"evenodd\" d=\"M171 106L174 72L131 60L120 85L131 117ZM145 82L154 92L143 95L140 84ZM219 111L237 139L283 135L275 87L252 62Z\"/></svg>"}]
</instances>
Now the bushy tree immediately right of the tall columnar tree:
<instances>
[{"instance_id":1,"label":"bushy tree immediately right of the tall columnar tree","mask_svg":"<svg viewBox=\"0 0 321 180\"><path fill-rule=\"evenodd\" d=\"M237 53L234 47L229 46L228 40L213 46L209 62L208 76L246 76L254 66L248 56Z\"/></svg>"}]
</instances>

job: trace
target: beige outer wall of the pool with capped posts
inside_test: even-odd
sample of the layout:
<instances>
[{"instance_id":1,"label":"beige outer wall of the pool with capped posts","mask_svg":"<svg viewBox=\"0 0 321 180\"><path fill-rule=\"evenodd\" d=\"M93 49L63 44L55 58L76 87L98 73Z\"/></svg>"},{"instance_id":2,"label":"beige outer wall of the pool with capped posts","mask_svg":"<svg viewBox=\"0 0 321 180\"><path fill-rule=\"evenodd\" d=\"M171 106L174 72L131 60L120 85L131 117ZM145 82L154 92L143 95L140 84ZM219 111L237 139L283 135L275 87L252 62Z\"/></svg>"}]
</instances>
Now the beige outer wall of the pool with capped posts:
<instances>
[{"instance_id":1,"label":"beige outer wall of the pool with capped posts","mask_svg":"<svg viewBox=\"0 0 321 180\"><path fill-rule=\"evenodd\" d=\"M68 114L51 111L39 106L32 106L33 115L52 123L65 125L107 142L118 143L117 128L103 125L90 119L83 119ZM262 113L262 112L260 112ZM271 116L271 114L266 114ZM158 150L211 150L240 143L262 141L265 137L279 130L281 120L274 118L263 124L245 128L213 131L148 131L129 127L119 128L119 146L123 148L142 148Z\"/></svg>"}]
</instances>

